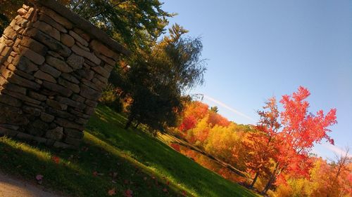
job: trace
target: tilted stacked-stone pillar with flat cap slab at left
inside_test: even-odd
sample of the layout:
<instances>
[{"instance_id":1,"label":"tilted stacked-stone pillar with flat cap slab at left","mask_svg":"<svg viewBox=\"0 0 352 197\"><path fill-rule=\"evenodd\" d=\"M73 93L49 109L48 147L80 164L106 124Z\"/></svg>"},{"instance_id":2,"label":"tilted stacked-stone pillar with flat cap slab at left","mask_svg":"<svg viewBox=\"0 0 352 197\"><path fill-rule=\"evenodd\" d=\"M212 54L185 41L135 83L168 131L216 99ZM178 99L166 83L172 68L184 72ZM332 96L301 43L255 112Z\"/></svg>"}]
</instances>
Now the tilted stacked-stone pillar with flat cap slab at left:
<instances>
[{"instance_id":1,"label":"tilted stacked-stone pillar with flat cap slab at left","mask_svg":"<svg viewBox=\"0 0 352 197\"><path fill-rule=\"evenodd\" d=\"M129 52L54 0L18 14L0 38L0 135L77 147L119 55Z\"/></svg>"}]
</instances>

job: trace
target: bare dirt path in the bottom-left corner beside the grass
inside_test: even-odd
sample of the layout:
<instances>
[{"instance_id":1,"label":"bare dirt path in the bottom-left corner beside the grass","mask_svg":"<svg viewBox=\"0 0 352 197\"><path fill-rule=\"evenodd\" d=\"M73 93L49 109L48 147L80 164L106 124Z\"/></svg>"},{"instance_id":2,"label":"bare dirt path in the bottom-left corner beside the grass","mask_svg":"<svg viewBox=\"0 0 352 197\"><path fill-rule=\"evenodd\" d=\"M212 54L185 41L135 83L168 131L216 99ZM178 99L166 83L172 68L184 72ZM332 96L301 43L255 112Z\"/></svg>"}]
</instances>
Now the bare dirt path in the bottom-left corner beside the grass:
<instances>
[{"instance_id":1,"label":"bare dirt path in the bottom-left corner beside the grass","mask_svg":"<svg viewBox=\"0 0 352 197\"><path fill-rule=\"evenodd\" d=\"M0 172L0 197L63 197Z\"/></svg>"}]
</instances>

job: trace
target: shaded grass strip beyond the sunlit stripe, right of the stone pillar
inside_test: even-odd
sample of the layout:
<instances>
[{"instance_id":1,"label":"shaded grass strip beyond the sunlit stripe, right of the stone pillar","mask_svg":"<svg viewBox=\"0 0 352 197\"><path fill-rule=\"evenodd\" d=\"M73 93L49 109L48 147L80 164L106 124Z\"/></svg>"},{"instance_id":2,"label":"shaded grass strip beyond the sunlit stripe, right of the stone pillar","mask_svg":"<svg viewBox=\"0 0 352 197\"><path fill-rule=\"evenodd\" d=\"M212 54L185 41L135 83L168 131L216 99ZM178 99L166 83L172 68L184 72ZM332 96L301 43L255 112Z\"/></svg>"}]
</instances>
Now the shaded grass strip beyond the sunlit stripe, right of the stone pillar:
<instances>
[{"instance_id":1,"label":"shaded grass strip beyond the sunlit stripe, right of the stone pillar","mask_svg":"<svg viewBox=\"0 0 352 197\"><path fill-rule=\"evenodd\" d=\"M163 142L140 130L124 130L125 117L105 106L99 106L87 131L117 147L148 168L157 171L194 196L256 196L239 184L194 163Z\"/></svg>"}]
</instances>

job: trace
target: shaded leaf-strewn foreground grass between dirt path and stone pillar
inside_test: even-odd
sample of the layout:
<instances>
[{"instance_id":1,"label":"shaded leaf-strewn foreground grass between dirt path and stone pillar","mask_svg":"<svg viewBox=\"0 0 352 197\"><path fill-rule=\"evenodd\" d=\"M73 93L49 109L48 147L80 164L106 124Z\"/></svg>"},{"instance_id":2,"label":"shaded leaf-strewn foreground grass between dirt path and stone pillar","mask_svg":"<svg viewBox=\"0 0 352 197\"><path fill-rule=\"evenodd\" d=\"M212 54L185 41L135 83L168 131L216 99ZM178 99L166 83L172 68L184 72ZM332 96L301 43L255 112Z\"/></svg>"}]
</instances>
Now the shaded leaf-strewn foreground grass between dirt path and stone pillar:
<instances>
[{"instance_id":1,"label":"shaded leaf-strewn foreground grass between dirt path and stone pillar","mask_svg":"<svg viewBox=\"0 0 352 197\"><path fill-rule=\"evenodd\" d=\"M33 182L36 175L43 175L44 186L70 196L108 196L113 188L117 196L127 189L133 196L179 196L175 187L153 179L137 163L89 133L84 141L80 151L58 151L0 137L0 168ZM53 156L60 161L56 163Z\"/></svg>"}]
</instances>

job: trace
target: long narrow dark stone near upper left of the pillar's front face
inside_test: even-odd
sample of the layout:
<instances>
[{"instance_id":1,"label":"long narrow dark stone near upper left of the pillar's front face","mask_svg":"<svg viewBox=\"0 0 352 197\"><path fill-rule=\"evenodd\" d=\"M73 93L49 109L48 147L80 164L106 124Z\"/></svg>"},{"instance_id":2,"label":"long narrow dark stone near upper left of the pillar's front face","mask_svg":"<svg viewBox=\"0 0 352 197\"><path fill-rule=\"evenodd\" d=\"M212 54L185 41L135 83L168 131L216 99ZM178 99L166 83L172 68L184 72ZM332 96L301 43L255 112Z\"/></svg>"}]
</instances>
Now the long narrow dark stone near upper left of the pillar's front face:
<instances>
[{"instance_id":1,"label":"long narrow dark stone near upper left of the pillar's front face","mask_svg":"<svg viewBox=\"0 0 352 197\"><path fill-rule=\"evenodd\" d=\"M32 28L28 30L25 34L26 36L30 36L33 39L43 43L45 46L54 50L56 53L62 55L63 57L68 57L71 54L70 48L63 45L60 41L52 38L51 36L44 34L42 31L36 28Z\"/></svg>"}]
</instances>

